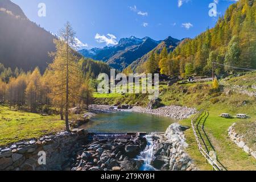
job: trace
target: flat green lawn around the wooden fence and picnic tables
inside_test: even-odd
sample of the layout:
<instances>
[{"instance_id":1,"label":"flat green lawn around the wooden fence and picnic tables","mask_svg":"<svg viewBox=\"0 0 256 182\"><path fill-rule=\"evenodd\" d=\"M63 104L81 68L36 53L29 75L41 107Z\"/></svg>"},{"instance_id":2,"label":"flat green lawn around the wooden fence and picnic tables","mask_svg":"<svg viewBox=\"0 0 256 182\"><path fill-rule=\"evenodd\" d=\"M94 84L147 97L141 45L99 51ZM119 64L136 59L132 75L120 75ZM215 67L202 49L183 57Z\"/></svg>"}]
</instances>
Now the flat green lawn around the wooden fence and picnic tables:
<instances>
[{"instance_id":1,"label":"flat green lawn around the wooden fence and picnic tables","mask_svg":"<svg viewBox=\"0 0 256 182\"><path fill-rule=\"evenodd\" d=\"M230 97L230 100L232 100L232 98L233 97ZM234 122L240 123L244 122L244 120L237 118L225 119L218 116L221 113L230 113L235 115L242 112L251 115L251 118L247 119L247 122L256 121L255 102L251 105L240 106L234 109L232 106L226 104L230 102L230 100L227 100L222 104L211 105L208 107L209 117L205 121L205 131L214 147L214 150L217 152L218 160L226 169L256 170L256 160L233 143L228 136L228 128ZM180 123L181 125L191 126L190 119L185 119ZM196 164L201 169L207 170L209 165L205 163L204 158L198 153L192 129L187 130L185 135L187 137L187 142L189 143L187 152L193 159L195 159ZM207 146L209 146L208 142Z\"/></svg>"}]
</instances>

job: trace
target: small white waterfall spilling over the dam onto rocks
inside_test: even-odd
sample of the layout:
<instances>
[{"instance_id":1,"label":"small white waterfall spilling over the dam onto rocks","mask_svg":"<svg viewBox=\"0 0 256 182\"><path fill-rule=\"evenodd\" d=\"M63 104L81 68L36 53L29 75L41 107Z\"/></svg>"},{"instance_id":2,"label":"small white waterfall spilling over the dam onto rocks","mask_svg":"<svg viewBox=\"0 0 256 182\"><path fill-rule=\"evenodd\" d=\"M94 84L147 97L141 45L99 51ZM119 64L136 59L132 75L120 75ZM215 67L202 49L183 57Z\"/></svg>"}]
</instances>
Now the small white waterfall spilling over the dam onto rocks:
<instances>
[{"instance_id":1,"label":"small white waterfall spilling over the dam onto rocks","mask_svg":"<svg viewBox=\"0 0 256 182\"><path fill-rule=\"evenodd\" d=\"M147 139L147 147L137 157L137 159L144 161L140 171L156 171L156 169L150 165L151 161L154 158L153 135L152 134L151 135L146 135L145 138Z\"/></svg>"}]
</instances>

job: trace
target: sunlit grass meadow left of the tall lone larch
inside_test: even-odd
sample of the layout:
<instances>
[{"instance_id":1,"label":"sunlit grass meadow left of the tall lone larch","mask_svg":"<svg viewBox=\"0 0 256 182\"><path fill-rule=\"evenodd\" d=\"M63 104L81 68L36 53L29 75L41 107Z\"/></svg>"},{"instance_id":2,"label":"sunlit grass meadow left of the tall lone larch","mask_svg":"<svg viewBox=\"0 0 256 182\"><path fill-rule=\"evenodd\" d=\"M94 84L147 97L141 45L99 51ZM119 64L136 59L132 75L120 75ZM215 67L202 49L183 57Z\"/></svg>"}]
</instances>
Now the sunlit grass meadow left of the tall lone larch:
<instances>
[{"instance_id":1,"label":"sunlit grass meadow left of the tall lone larch","mask_svg":"<svg viewBox=\"0 0 256 182\"><path fill-rule=\"evenodd\" d=\"M39 138L65 129L59 115L42 116L25 111L13 111L0 105L0 146L20 140Z\"/></svg>"}]
</instances>

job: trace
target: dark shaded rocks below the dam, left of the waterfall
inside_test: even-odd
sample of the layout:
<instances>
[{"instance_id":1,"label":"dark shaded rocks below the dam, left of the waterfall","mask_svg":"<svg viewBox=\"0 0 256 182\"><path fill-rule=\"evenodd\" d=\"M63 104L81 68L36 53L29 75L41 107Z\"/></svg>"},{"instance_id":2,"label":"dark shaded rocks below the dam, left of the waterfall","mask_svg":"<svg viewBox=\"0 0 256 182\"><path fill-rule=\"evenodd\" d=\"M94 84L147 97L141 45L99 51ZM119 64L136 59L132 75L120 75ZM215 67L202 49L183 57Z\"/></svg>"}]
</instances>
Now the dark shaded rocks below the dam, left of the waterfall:
<instances>
[{"instance_id":1,"label":"dark shaded rocks below the dam, left of the waterfall","mask_svg":"<svg viewBox=\"0 0 256 182\"><path fill-rule=\"evenodd\" d=\"M146 145L146 138L94 139L77 152L72 171L138 171L143 160L134 158Z\"/></svg>"}]
</instances>

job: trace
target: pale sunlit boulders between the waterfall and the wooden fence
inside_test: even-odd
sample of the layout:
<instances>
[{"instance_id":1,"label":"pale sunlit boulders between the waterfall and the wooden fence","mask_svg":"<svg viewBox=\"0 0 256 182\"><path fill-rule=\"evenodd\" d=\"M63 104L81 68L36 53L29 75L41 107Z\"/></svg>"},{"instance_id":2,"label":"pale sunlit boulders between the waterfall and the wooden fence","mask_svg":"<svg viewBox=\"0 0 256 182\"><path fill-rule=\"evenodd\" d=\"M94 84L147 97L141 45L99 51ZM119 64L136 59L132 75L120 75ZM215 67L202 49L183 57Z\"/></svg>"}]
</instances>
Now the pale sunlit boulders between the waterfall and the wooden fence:
<instances>
[{"instance_id":1,"label":"pale sunlit boulders between the waterfall and the wooden fence","mask_svg":"<svg viewBox=\"0 0 256 182\"><path fill-rule=\"evenodd\" d=\"M188 144L185 142L184 130L187 127L177 123L168 127L165 134L155 134L154 157L151 165L161 171L196 171L199 170L193 160L185 152Z\"/></svg>"}]
</instances>

